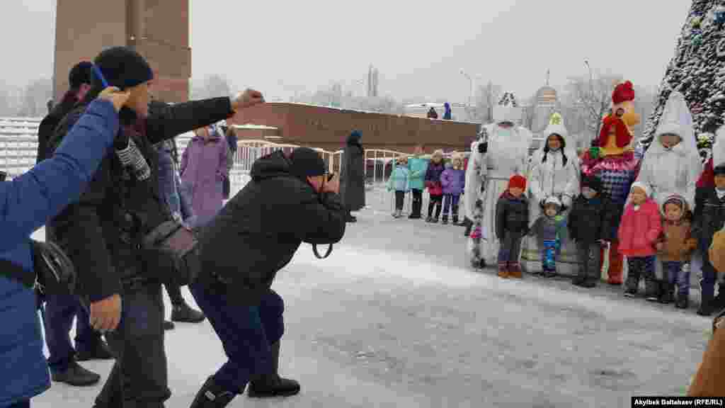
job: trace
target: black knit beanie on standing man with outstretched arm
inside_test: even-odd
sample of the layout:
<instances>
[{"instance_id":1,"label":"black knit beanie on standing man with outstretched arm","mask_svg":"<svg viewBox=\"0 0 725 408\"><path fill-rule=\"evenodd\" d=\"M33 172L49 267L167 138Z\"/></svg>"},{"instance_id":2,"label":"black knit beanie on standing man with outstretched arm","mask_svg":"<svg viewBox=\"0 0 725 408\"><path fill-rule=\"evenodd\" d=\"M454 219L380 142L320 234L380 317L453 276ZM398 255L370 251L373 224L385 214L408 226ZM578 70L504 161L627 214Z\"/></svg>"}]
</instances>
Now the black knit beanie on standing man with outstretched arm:
<instances>
[{"instance_id":1,"label":"black knit beanie on standing man with outstretched arm","mask_svg":"<svg viewBox=\"0 0 725 408\"><path fill-rule=\"evenodd\" d=\"M104 49L94 60L109 86L127 89L154 78L149 63L141 54L125 46ZM102 89L101 79L94 76L94 88Z\"/></svg>"}]
</instances>

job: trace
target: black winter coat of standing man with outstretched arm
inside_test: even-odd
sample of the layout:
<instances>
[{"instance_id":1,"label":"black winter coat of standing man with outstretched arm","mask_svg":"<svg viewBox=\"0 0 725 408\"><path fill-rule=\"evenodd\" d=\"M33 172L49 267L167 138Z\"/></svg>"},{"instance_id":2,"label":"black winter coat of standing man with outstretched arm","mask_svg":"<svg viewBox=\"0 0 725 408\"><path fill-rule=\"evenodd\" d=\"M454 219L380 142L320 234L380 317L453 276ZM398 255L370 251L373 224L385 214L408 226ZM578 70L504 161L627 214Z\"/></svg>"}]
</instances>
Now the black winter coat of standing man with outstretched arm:
<instances>
[{"instance_id":1,"label":"black winter coat of standing man with outstretched arm","mask_svg":"<svg viewBox=\"0 0 725 408\"><path fill-rule=\"evenodd\" d=\"M80 105L58 126L51 147L56 147L85 110ZM53 240L75 264L78 293L91 302L122 293L123 282L154 279L157 269L144 264L141 238L163 221L171 219L159 192L158 153L153 144L207 126L232 114L228 98L206 99L149 109L146 136L133 131L130 123L121 131L130 137L149 164L151 176L138 181L121 166L114 151L101 166L77 203L51 220Z\"/></svg>"}]
</instances>

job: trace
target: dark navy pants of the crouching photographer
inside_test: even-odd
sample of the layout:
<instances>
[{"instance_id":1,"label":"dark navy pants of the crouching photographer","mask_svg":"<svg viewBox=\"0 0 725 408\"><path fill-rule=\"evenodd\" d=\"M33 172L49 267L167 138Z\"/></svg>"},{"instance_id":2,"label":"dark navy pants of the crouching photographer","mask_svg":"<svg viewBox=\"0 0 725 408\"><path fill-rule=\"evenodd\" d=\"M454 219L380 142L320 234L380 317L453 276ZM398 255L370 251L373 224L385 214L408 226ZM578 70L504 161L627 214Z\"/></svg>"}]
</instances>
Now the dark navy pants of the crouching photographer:
<instances>
[{"instance_id":1,"label":"dark navy pants of the crouching photographer","mask_svg":"<svg viewBox=\"0 0 725 408\"><path fill-rule=\"evenodd\" d=\"M228 358L214 375L217 385L231 393L242 393L252 375L274 372L270 346L284 333L284 302L280 295L268 290L259 305L244 306L232 288L208 276L189 285L189 289Z\"/></svg>"}]
</instances>

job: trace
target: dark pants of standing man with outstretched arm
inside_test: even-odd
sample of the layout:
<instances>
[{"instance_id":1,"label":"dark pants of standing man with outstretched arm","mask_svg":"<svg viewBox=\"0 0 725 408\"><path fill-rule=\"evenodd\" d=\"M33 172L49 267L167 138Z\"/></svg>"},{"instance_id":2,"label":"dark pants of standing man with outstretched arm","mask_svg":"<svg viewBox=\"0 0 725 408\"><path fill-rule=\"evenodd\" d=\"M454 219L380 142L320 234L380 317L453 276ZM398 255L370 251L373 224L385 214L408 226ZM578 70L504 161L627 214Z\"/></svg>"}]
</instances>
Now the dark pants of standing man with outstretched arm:
<instances>
[{"instance_id":1,"label":"dark pants of standing man with outstretched arm","mask_svg":"<svg viewBox=\"0 0 725 408\"><path fill-rule=\"evenodd\" d=\"M171 391L161 285L145 282L125 287L121 299L121 322L115 331L106 334L118 359L96 397L96 407L163 408Z\"/></svg>"}]
</instances>

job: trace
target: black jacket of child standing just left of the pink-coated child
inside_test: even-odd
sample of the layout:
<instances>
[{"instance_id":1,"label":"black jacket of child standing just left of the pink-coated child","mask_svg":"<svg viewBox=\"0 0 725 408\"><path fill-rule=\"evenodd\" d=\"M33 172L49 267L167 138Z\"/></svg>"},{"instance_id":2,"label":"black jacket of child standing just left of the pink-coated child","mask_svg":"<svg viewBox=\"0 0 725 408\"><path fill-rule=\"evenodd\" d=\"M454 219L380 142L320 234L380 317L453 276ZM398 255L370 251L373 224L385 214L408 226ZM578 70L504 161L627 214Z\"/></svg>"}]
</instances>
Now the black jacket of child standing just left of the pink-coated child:
<instances>
[{"instance_id":1,"label":"black jacket of child standing just left of the pink-coated child","mask_svg":"<svg viewBox=\"0 0 725 408\"><path fill-rule=\"evenodd\" d=\"M594 243L598 240L612 241L616 236L613 231L618 227L616 217L618 206L612 203L609 196L599 193L592 200L579 195L571 205L568 230L572 240Z\"/></svg>"}]
</instances>

